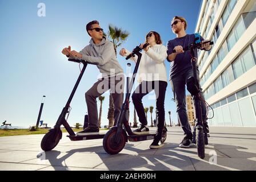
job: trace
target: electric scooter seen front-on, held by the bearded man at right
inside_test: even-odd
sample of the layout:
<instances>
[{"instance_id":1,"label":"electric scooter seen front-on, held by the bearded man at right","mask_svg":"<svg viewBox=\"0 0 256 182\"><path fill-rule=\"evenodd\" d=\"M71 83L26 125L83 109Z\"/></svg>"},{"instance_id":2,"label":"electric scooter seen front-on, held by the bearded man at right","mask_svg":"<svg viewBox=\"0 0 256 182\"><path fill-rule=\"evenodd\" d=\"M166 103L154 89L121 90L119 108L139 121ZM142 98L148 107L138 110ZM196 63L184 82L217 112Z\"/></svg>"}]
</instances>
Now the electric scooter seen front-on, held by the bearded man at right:
<instances>
[{"instance_id":1,"label":"electric scooter seen front-on, held by the bearded man at right","mask_svg":"<svg viewBox=\"0 0 256 182\"><path fill-rule=\"evenodd\" d=\"M204 42L204 43L210 43L210 45L213 45L213 42ZM195 34L195 40L193 43L190 43L189 46L183 47L183 51L189 51L191 55L191 65L193 69L193 78L194 78L194 84L195 84L195 96L199 97L200 92L200 86L199 86L199 79L197 77L197 58L195 57L195 48L201 47L201 40L200 40L200 34ZM173 50L173 53L176 51ZM200 98L200 97L199 97ZM203 101L205 102L205 101ZM195 124L196 122L196 124ZM203 117L202 117L202 103L201 100L199 100L199 115L197 116L197 121L194 121L194 131L193 131L193 143L197 144L197 152L199 158L203 159L205 158L205 146L208 144L208 137L210 135L207 134L205 127L203 126Z\"/></svg>"}]
</instances>

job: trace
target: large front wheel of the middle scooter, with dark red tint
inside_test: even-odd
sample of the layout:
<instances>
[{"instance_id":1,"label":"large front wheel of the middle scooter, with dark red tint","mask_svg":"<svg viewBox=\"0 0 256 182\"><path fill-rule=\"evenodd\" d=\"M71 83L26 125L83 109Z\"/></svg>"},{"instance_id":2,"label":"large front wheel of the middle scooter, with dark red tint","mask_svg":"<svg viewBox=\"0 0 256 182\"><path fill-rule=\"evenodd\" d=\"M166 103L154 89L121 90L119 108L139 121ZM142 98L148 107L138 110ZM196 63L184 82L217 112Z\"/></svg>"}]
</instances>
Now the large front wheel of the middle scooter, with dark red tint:
<instances>
[{"instance_id":1,"label":"large front wheel of the middle scooter, with dark red tint","mask_svg":"<svg viewBox=\"0 0 256 182\"><path fill-rule=\"evenodd\" d=\"M105 134L103 138L103 148L108 154L118 154L120 151L123 150L126 143L126 135L125 131L122 130L121 134L119 135L119 142L115 141L115 134L117 133L117 127L113 127Z\"/></svg>"}]
</instances>

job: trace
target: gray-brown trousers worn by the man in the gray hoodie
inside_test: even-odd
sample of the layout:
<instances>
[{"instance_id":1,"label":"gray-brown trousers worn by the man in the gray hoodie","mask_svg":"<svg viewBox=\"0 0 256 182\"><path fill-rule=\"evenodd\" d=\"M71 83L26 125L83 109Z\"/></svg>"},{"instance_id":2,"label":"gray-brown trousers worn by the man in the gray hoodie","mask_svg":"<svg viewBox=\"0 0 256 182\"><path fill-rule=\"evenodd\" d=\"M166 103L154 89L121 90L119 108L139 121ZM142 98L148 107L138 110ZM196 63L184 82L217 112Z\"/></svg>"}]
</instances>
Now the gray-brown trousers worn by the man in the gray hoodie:
<instances>
[{"instance_id":1,"label":"gray-brown trousers worn by the man in the gray hoodie","mask_svg":"<svg viewBox=\"0 0 256 182\"><path fill-rule=\"evenodd\" d=\"M118 121L119 114L123 103L123 88L125 78L123 75L101 78L85 93L85 100L88 110L89 127L95 128L98 126L98 109L97 98L110 89L110 93L114 101L114 119Z\"/></svg>"}]
</instances>

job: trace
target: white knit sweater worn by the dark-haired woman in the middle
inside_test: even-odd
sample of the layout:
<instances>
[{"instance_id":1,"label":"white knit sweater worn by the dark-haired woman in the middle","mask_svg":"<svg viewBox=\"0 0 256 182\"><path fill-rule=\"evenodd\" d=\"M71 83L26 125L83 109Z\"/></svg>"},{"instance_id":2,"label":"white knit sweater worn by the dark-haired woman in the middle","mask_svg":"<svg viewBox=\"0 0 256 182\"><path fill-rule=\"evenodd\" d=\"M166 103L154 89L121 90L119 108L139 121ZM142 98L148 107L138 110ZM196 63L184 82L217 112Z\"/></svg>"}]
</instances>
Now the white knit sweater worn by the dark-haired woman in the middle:
<instances>
[{"instance_id":1,"label":"white knit sweater worn by the dark-haired woman in the middle","mask_svg":"<svg viewBox=\"0 0 256 182\"><path fill-rule=\"evenodd\" d=\"M126 50L128 56L131 52ZM155 44L147 52L142 52L141 63L139 64L138 82L142 81L166 81L167 73L165 59L167 57L167 48L162 44ZM133 58L137 61L138 56ZM131 60L133 60L131 58Z\"/></svg>"}]
</instances>

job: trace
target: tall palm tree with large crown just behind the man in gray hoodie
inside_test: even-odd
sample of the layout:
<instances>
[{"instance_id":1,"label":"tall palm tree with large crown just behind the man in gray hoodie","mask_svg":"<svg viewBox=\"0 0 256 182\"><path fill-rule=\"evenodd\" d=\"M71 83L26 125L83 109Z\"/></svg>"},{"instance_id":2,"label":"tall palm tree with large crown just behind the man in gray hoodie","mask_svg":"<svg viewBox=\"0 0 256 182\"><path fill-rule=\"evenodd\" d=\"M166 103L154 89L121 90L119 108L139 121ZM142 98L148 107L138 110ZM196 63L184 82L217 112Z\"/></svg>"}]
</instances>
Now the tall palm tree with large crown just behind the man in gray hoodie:
<instances>
[{"instance_id":1,"label":"tall palm tree with large crown just behind the man in gray hoodie","mask_svg":"<svg viewBox=\"0 0 256 182\"><path fill-rule=\"evenodd\" d=\"M106 36L106 34L104 35ZM111 39L110 42L113 43L115 56L117 56L117 47L121 46L129 35L130 33L122 30L122 28L115 27L111 24L109 25L109 32L107 32L107 36ZM109 119L109 127L112 127L114 125L114 101L111 93L109 95L109 112L107 113L107 119Z\"/></svg>"}]
</instances>

